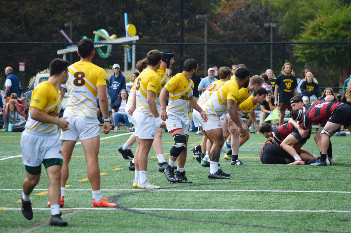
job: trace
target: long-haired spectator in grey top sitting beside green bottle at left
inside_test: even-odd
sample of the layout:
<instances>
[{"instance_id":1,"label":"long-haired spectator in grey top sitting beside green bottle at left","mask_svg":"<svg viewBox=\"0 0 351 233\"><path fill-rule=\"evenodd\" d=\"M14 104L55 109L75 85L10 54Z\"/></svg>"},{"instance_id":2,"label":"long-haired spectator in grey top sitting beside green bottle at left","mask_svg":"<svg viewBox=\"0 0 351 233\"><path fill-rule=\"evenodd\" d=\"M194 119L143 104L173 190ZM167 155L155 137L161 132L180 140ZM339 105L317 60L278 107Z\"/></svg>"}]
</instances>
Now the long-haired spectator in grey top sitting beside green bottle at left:
<instances>
[{"instance_id":1,"label":"long-haired spectator in grey top sitting beside green bottle at left","mask_svg":"<svg viewBox=\"0 0 351 233\"><path fill-rule=\"evenodd\" d=\"M24 127L26 125L26 119L23 117L21 111L16 108L16 104L14 102L8 104L4 118L5 130L2 130L3 132L8 131L8 124L10 123L13 125L12 131L14 132L22 132L25 130Z\"/></svg>"}]
</instances>

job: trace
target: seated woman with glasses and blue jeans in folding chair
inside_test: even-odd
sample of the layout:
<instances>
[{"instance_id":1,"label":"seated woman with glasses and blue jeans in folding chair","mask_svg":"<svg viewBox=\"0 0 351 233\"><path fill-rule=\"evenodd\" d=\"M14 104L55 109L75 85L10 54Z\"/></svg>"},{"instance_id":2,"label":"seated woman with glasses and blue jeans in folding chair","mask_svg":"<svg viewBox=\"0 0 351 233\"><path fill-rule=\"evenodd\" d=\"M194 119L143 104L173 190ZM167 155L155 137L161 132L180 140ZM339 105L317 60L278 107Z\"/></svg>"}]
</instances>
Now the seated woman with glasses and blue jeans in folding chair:
<instances>
[{"instance_id":1,"label":"seated woman with glasses and blue jeans in folding chair","mask_svg":"<svg viewBox=\"0 0 351 233\"><path fill-rule=\"evenodd\" d=\"M122 89L119 92L118 99L113 103L111 111L113 112L112 117L114 123L114 131L118 132L118 124L119 122L126 123L127 132L130 132L129 127L131 126L128 115L125 112L125 106L127 104L128 92L126 89Z\"/></svg>"}]
</instances>

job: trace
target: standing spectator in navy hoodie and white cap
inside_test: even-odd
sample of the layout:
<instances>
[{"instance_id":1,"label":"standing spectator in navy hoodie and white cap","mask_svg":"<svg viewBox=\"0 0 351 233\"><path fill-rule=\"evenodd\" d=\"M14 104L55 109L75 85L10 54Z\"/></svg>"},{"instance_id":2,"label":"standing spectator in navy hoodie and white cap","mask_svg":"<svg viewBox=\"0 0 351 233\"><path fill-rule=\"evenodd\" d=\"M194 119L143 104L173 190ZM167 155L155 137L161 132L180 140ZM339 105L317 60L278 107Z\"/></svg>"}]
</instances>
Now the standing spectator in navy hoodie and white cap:
<instances>
[{"instance_id":1,"label":"standing spectator in navy hoodie and white cap","mask_svg":"<svg viewBox=\"0 0 351 233\"><path fill-rule=\"evenodd\" d=\"M122 75L120 71L120 66L118 64L114 64L112 66L113 75L110 78L110 86L108 87L108 94L111 97L111 107L113 103L118 99L118 95L122 89L126 88L126 78Z\"/></svg>"}]
</instances>

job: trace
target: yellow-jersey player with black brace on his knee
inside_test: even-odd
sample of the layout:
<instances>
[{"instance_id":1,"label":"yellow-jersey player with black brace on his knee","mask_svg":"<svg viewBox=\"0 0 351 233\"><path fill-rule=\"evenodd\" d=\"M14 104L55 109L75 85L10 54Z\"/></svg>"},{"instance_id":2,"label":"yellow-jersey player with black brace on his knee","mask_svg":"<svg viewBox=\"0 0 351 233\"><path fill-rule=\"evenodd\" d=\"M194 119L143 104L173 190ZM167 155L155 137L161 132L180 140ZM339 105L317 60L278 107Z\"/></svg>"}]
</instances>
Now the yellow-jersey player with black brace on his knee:
<instances>
[{"instance_id":1,"label":"yellow-jersey player with black brace on his knee","mask_svg":"<svg viewBox=\"0 0 351 233\"><path fill-rule=\"evenodd\" d=\"M196 103L193 97L194 83L198 63L194 59L187 59L183 65L183 72L173 76L164 86L160 94L161 118L166 122L167 130L171 133L175 144L170 150L170 159L164 170L167 181L172 183L192 183L185 176L186 148L189 138L188 105L196 109L203 121L207 121L204 110ZM170 101L166 109L167 94ZM174 176L174 163L177 162L177 172Z\"/></svg>"}]
</instances>

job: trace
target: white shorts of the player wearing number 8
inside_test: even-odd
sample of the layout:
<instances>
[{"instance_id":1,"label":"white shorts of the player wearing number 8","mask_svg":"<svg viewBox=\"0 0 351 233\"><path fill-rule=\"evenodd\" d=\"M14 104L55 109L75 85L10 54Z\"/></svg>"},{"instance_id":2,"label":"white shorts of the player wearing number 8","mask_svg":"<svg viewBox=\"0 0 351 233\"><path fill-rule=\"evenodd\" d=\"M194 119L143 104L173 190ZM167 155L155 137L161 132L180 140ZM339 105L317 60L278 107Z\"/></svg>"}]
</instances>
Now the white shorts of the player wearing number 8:
<instances>
[{"instance_id":1,"label":"white shorts of the player wearing number 8","mask_svg":"<svg viewBox=\"0 0 351 233\"><path fill-rule=\"evenodd\" d=\"M64 117L69 122L69 130L61 130L61 140L78 141L89 139L100 135L100 126L97 118L87 116L76 116L64 111Z\"/></svg>"}]
</instances>

